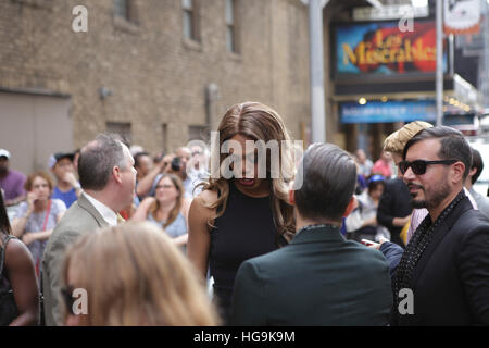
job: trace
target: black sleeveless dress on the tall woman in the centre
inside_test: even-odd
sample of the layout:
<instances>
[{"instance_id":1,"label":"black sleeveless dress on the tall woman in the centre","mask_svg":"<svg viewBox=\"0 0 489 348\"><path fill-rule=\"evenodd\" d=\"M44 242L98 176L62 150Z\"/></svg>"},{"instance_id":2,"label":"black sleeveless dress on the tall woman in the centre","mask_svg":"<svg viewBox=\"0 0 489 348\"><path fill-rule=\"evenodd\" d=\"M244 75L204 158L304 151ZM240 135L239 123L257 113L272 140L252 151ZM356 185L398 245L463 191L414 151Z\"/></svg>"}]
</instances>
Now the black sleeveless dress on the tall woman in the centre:
<instances>
[{"instance_id":1,"label":"black sleeveless dress on the tall woman in the centre","mask_svg":"<svg viewBox=\"0 0 489 348\"><path fill-rule=\"evenodd\" d=\"M224 214L211 231L210 270L214 277L214 301L224 324L229 323L236 273L248 259L287 244L278 237L271 197L252 198L229 181L229 196Z\"/></svg>"}]
</instances>

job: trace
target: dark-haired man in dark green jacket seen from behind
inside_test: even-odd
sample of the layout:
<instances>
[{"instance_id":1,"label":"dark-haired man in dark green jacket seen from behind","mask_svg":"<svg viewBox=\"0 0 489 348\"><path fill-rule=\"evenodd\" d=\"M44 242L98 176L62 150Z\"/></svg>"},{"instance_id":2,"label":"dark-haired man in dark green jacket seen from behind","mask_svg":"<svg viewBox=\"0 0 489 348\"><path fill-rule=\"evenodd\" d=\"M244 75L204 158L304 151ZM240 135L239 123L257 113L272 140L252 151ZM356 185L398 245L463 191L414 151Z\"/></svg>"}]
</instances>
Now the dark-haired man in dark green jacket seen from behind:
<instances>
[{"instance_id":1,"label":"dark-haired man in dark green jacket seen from behind","mask_svg":"<svg viewBox=\"0 0 489 348\"><path fill-rule=\"evenodd\" d=\"M392 304L384 256L340 233L355 200L356 166L340 148L313 145L289 191L297 234L279 250L243 262L234 325L387 325Z\"/></svg>"}]
</instances>

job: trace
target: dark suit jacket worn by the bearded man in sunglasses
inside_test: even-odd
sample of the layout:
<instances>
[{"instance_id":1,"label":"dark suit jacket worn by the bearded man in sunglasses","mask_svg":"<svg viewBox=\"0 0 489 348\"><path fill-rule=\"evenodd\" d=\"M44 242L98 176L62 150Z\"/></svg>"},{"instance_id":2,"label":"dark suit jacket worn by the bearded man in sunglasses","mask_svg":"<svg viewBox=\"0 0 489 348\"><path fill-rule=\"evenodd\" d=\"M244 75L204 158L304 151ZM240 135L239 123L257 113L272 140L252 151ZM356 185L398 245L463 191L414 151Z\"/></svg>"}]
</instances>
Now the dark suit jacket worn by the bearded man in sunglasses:
<instances>
[{"instance_id":1,"label":"dark suit jacket worn by the bearded man in sunglasses","mask_svg":"<svg viewBox=\"0 0 489 348\"><path fill-rule=\"evenodd\" d=\"M464 198L436 231L413 275L414 314L400 325L489 325L489 223Z\"/></svg>"}]
</instances>

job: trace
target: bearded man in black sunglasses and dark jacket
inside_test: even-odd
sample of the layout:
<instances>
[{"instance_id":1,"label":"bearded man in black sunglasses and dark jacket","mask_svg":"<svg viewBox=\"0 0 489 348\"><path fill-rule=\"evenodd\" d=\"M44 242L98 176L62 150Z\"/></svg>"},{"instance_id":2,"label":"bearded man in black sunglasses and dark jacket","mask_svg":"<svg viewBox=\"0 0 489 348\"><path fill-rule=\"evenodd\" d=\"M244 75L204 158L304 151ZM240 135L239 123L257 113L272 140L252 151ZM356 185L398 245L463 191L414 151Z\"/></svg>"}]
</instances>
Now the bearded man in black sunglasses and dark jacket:
<instances>
[{"instance_id":1,"label":"bearded man in black sunglasses and dark jacket","mask_svg":"<svg viewBox=\"0 0 489 348\"><path fill-rule=\"evenodd\" d=\"M429 215L393 270L393 325L489 324L489 221L463 191L471 163L467 141L450 127L423 129L404 147L403 181ZM403 289L411 312L401 310Z\"/></svg>"}]
</instances>

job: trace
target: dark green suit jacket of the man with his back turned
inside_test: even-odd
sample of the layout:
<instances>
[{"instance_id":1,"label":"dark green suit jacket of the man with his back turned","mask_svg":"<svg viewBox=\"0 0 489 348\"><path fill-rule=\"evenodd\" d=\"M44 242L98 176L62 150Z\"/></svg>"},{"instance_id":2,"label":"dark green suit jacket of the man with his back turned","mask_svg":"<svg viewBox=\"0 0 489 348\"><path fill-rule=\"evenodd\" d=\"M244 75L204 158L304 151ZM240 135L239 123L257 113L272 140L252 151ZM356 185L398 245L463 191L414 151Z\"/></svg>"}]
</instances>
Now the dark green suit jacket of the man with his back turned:
<instances>
[{"instance_id":1,"label":"dark green suit jacket of the man with his back turned","mask_svg":"<svg viewBox=\"0 0 489 348\"><path fill-rule=\"evenodd\" d=\"M384 256L326 227L241 264L231 324L386 325L391 306Z\"/></svg>"}]
</instances>

